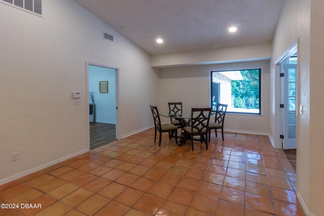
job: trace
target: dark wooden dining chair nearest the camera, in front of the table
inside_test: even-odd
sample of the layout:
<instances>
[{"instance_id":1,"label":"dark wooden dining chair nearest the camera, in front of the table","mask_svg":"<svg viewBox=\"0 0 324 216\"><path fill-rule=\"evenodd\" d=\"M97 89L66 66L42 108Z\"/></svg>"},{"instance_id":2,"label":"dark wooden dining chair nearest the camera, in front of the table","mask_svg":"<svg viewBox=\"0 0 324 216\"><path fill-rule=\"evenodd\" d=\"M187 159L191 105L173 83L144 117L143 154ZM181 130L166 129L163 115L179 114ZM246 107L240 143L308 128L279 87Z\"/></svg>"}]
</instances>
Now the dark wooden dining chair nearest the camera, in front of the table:
<instances>
[{"instance_id":1,"label":"dark wooden dining chair nearest the camera, in front of the table","mask_svg":"<svg viewBox=\"0 0 324 216\"><path fill-rule=\"evenodd\" d=\"M206 136L205 143L208 149L208 125L212 108L191 108L190 126L183 128L184 133L190 135L191 147L193 151L193 136L200 136L200 143Z\"/></svg>"}]
</instances>

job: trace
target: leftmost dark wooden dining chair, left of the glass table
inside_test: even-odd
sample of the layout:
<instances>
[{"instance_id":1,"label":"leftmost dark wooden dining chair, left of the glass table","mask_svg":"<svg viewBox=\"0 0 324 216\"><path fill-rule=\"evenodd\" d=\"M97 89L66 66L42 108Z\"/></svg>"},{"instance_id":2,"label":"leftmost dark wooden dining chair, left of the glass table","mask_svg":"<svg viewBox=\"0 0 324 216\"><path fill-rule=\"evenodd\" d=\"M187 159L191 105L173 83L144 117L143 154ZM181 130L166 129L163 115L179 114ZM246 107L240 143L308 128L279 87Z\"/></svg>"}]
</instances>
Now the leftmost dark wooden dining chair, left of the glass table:
<instances>
[{"instance_id":1,"label":"leftmost dark wooden dining chair, left of the glass table","mask_svg":"<svg viewBox=\"0 0 324 216\"><path fill-rule=\"evenodd\" d=\"M156 133L157 131L159 132L159 141L158 141L158 146L161 146L161 138L162 138L162 133L164 132L168 132L169 133L169 139L171 139L170 136L170 132L174 132L175 133L175 139L176 139L176 143L178 145L178 127L176 125L173 124L161 124L161 120L160 120L160 115L158 114L158 110L156 106L151 106L151 111L152 111L152 115L153 115L153 119L154 119L154 143L156 141Z\"/></svg>"}]
</instances>

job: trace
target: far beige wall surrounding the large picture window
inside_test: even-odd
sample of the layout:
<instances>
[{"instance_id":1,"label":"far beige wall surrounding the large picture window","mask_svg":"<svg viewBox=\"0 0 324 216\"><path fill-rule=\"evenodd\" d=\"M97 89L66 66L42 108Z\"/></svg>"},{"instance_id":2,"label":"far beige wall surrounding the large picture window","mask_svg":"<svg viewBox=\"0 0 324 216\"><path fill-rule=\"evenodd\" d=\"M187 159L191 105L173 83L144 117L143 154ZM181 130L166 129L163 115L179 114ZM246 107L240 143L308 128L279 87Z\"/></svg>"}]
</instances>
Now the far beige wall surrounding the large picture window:
<instances>
[{"instance_id":1,"label":"far beige wall surrounding the large picture window","mask_svg":"<svg viewBox=\"0 0 324 216\"><path fill-rule=\"evenodd\" d=\"M262 67L262 115L226 114L227 131L268 135L270 132L269 61L239 62L160 69L159 110L168 110L168 102L182 102L183 109L210 107L210 71ZM161 121L168 122L162 118ZM170 120L169 120L170 121Z\"/></svg>"}]
</instances>

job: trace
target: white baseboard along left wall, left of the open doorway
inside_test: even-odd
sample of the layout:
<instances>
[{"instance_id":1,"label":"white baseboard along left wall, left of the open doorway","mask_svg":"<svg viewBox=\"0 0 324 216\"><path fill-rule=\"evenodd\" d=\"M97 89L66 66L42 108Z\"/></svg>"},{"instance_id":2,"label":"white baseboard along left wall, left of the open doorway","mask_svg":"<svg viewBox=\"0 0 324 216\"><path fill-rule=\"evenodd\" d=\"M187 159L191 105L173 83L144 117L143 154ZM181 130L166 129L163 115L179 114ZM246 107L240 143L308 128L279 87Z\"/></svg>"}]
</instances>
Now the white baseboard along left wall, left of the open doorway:
<instances>
[{"instance_id":1,"label":"white baseboard along left wall, left of the open doorway","mask_svg":"<svg viewBox=\"0 0 324 216\"><path fill-rule=\"evenodd\" d=\"M49 167L49 166L52 166L52 165L54 165L54 164L56 164L56 163L62 162L62 161L64 161L64 160L70 159L70 158L72 158L72 157L75 157L75 156L77 156L77 155L80 155L80 154L86 153L86 152L88 152L88 151L89 151L89 149L84 149L84 150L82 150L82 151L75 152L75 153L73 153L73 154L70 154L70 155L67 155L67 156L61 157L61 158L56 159L56 160L53 160L53 161L51 161L51 162L48 162L48 163L42 164L42 165L40 165L40 166L36 166L36 167L31 168L31 169L28 169L28 170L26 170L26 171L20 172L19 174L16 174L16 175L11 176L11 177L8 177L8 178L6 178L6 179L2 179L2 180L0 180L0 185L6 184L6 183L8 183L8 182L12 182L12 181L17 180L17 179L19 179L19 178L21 178L21 177L24 177L24 176L27 176L27 175L29 175L29 174L32 174L33 172L36 172L36 171L42 170L42 169L47 168L47 167Z\"/></svg>"}]
</instances>

